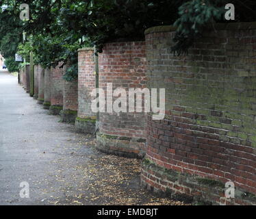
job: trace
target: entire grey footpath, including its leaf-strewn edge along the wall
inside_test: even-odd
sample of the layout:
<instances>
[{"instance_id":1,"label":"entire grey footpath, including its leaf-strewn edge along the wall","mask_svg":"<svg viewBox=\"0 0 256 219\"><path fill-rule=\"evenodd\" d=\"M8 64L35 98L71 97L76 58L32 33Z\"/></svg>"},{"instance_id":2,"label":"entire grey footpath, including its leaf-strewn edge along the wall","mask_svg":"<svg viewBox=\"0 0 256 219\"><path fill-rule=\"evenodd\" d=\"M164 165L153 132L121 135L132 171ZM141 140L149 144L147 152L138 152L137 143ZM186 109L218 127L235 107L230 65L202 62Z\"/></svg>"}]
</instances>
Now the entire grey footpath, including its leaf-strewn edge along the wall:
<instances>
[{"instance_id":1,"label":"entire grey footpath, including its leaf-strewn edge along the wall","mask_svg":"<svg viewBox=\"0 0 256 219\"><path fill-rule=\"evenodd\" d=\"M24 182L29 198L20 195ZM92 136L49 115L0 71L0 205L134 204L182 203L142 190L139 160L98 152Z\"/></svg>"}]
</instances>

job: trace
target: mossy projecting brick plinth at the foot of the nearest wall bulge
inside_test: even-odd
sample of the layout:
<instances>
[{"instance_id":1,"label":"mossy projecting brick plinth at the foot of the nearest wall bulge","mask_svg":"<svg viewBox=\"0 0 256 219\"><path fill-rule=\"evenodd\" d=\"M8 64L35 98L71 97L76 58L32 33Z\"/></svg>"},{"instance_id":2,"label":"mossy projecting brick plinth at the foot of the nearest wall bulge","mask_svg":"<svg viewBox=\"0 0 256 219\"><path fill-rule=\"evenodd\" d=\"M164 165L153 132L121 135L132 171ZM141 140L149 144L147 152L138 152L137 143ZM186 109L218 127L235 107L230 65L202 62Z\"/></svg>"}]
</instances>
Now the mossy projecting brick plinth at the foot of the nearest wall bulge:
<instances>
[{"instance_id":1,"label":"mossy projecting brick plinth at the foot of the nearest wall bulge","mask_svg":"<svg viewBox=\"0 0 256 219\"><path fill-rule=\"evenodd\" d=\"M155 164L155 162L146 157L142 159L142 170L149 174L149 178L151 178L151 175L153 175L153 178L158 178L155 179L155 183L157 184L159 184L160 181L165 181L166 187L164 191L162 191L162 194L166 194L166 196L169 196L170 198L193 203L203 203L203 205L216 205L220 204L220 201L216 202L216 197L219 197L221 199L224 196L225 183L222 183L221 181L216 181L214 179L190 175L188 173L179 172L177 170L167 169L163 166ZM155 173L152 174L152 171ZM178 188L185 187L186 190L190 190L190 192L177 193L177 189L175 187L168 187L168 182L174 183L174 185L177 185ZM143 184L145 185L144 181L142 181L142 185ZM200 192L198 188L201 188ZM152 186L151 190L159 192L158 189L155 190L155 188L152 188ZM212 199L212 197L215 198ZM253 205L256 204L256 195L250 192L245 192L240 188L235 188L235 197L240 201L246 201L247 203ZM230 201L230 198L227 198L227 201Z\"/></svg>"}]
</instances>

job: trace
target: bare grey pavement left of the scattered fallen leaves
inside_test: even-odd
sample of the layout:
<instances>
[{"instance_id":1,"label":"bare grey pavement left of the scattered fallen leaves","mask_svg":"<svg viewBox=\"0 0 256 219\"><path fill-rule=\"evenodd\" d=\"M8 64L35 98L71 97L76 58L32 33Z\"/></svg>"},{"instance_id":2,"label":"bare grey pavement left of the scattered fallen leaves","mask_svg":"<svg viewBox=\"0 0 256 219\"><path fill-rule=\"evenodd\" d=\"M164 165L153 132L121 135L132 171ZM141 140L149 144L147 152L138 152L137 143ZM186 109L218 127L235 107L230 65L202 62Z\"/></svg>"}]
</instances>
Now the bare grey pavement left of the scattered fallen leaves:
<instances>
[{"instance_id":1,"label":"bare grey pavement left of the scattered fallen leaves","mask_svg":"<svg viewBox=\"0 0 256 219\"><path fill-rule=\"evenodd\" d=\"M77 135L72 125L59 120L30 98L18 86L16 77L0 72L1 205L51 204L49 201L56 197L51 191L63 196L55 179L61 168L53 162L64 158L66 145L77 145ZM60 146L63 150L57 151ZM20 183L24 181L29 183L29 198L20 196Z\"/></svg>"}]
</instances>

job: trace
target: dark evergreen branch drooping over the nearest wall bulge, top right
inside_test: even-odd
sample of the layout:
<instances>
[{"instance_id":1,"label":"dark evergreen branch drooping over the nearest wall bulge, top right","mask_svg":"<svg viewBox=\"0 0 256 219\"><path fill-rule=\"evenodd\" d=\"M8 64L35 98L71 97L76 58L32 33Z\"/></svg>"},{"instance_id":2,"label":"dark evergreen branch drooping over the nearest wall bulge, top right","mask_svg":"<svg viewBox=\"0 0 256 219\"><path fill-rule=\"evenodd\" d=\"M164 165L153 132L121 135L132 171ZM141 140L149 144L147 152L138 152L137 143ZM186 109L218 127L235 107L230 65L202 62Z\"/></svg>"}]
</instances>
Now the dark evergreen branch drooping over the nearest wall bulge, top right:
<instances>
[{"instance_id":1,"label":"dark evergreen branch drooping over the nearest wall bulge, top right","mask_svg":"<svg viewBox=\"0 0 256 219\"><path fill-rule=\"evenodd\" d=\"M174 53L188 54L196 38L200 38L205 26L214 28L214 23L231 22L225 20L225 5L235 5L235 22L256 21L256 2L238 0L192 0L179 7L179 18L173 24L177 27Z\"/></svg>"}]
</instances>

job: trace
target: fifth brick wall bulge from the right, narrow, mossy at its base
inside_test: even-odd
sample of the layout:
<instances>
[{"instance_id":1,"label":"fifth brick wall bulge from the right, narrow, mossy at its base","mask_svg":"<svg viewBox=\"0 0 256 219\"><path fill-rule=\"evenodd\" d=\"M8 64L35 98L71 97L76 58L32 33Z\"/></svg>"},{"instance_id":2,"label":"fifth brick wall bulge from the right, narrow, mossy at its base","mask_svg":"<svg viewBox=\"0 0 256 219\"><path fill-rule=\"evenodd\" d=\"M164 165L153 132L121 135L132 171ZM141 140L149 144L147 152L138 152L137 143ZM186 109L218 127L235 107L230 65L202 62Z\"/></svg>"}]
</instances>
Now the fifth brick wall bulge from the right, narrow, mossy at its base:
<instances>
[{"instance_id":1,"label":"fifth brick wall bulge from the right, narrow, mossy at its base","mask_svg":"<svg viewBox=\"0 0 256 219\"><path fill-rule=\"evenodd\" d=\"M62 63L55 68L51 68L51 107L50 113L53 115L60 114L63 109L63 68L60 68Z\"/></svg>"}]
</instances>

